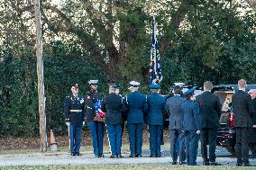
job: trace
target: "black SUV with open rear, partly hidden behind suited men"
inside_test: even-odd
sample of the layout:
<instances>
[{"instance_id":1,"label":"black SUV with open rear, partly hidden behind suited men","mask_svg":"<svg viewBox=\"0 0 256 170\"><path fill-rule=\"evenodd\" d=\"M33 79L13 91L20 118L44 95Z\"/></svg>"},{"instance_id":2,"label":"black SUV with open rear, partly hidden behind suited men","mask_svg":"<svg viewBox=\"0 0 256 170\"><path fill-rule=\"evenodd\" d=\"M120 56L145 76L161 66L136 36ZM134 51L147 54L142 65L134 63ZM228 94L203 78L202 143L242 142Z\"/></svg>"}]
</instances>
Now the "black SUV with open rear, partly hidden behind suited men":
<instances>
[{"instance_id":1,"label":"black SUV with open rear, partly hidden behind suited men","mask_svg":"<svg viewBox=\"0 0 256 170\"><path fill-rule=\"evenodd\" d=\"M252 88L256 88L256 85L247 85L246 92ZM223 104L220 127L217 133L217 145L227 148L231 154L235 154L234 146L236 138L232 110L232 95L237 90L237 85L216 85L212 90L212 93L216 94Z\"/></svg>"}]
</instances>

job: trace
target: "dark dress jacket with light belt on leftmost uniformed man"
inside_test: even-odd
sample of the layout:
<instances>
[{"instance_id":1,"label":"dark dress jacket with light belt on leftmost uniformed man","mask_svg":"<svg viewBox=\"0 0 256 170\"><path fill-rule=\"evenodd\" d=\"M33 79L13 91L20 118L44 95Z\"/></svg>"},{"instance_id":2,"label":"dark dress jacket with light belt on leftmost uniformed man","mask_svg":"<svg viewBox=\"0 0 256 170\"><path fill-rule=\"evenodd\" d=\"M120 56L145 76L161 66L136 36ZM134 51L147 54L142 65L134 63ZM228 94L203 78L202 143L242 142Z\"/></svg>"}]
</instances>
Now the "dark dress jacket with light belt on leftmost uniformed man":
<instances>
[{"instance_id":1,"label":"dark dress jacket with light belt on leftmost uniformed man","mask_svg":"<svg viewBox=\"0 0 256 170\"><path fill-rule=\"evenodd\" d=\"M83 121L85 121L84 99L74 95L66 97L64 114L66 122L70 122L71 125L82 126Z\"/></svg>"}]
</instances>

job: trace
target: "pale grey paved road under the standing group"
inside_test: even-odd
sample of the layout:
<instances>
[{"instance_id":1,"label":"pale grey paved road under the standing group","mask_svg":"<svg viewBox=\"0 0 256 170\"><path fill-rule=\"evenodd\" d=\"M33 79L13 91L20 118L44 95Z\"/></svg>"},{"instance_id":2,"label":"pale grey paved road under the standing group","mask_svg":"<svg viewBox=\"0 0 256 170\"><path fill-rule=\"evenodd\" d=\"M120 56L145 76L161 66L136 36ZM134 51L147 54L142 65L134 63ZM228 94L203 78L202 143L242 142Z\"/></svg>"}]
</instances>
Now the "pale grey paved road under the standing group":
<instances>
[{"instance_id":1,"label":"pale grey paved road under the standing group","mask_svg":"<svg viewBox=\"0 0 256 170\"><path fill-rule=\"evenodd\" d=\"M200 157L198 149L197 164L202 165L202 157ZM108 158L109 153L105 154L105 158L94 158L91 152L84 153L80 157L71 157L67 153L59 153L58 155L37 155L37 156L1 156L0 166L50 166L50 165L131 165L131 164L154 164L169 165L172 160L169 157L169 150L163 150L164 157L149 157L149 150L143 150L143 157L129 158L128 153L123 154L124 158ZM224 148L217 148L216 161L223 166L235 166L236 158L232 157ZM256 166L256 159L250 159L251 165Z\"/></svg>"}]
</instances>

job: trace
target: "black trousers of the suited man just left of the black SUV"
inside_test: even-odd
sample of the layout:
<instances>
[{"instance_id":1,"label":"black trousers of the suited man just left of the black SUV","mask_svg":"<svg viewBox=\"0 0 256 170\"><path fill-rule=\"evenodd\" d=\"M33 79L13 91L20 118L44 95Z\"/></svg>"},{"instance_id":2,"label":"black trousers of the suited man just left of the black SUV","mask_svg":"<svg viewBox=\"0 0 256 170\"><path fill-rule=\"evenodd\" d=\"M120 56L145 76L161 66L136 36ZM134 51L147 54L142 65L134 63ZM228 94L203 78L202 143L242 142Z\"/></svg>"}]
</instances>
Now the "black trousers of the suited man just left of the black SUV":
<instances>
[{"instance_id":1,"label":"black trousers of the suited man just left of the black SUV","mask_svg":"<svg viewBox=\"0 0 256 170\"><path fill-rule=\"evenodd\" d=\"M201 154L205 161L215 162L217 129L203 128L201 131ZM209 159L207 157L207 145L209 145Z\"/></svg>"}]
</instances>

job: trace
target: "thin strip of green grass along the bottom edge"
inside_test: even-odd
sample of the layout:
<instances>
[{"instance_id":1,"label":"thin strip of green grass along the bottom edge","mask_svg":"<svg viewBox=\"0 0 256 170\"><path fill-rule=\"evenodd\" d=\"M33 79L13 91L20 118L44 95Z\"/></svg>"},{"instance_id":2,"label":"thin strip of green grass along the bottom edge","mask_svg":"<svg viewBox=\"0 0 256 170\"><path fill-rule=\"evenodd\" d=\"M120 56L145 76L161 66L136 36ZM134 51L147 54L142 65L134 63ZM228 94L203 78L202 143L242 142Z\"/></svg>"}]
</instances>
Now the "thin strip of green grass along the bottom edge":
<instances>
[{"instance_id":1,"label":"thin strip of green grass along the bottom edge","mask_svg":"<svg viewBox=\"0 0 256 170\"><path fill-rule=\"evenodd\" d=\"M2 166L1 170L240 170L256 169L255 167L236 166L166 166L166 165L105 165L105 166Z\"/></svg>"}]
</instances>

